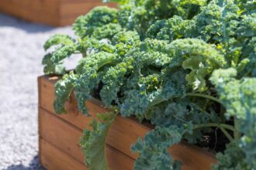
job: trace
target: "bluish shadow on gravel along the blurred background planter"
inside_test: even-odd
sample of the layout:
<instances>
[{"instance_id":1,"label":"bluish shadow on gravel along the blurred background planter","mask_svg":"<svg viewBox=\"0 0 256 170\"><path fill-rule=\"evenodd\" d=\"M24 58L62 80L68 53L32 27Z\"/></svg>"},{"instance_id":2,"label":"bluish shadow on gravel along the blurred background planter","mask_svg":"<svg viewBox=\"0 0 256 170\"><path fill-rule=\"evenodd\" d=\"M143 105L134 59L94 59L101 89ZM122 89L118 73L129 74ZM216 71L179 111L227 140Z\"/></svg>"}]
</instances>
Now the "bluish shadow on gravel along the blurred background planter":
<instances>
[{"instance_id":1,"label":"bluish shadow on gravel along the blurred background planter","mask_svg":"<svg viewBox=\"0 0 256 170\"><path fill-rule=\"evenodd\" d=\"M0 27L15 27L16 29L22 29L28 33L48 32L52 29L56 29L51 26L44 26L44 25L35 24L32 22L26 22L22 19L18 19L10 15L5 15L1 12L0 12Z\"/></svg>"}]
</instances>

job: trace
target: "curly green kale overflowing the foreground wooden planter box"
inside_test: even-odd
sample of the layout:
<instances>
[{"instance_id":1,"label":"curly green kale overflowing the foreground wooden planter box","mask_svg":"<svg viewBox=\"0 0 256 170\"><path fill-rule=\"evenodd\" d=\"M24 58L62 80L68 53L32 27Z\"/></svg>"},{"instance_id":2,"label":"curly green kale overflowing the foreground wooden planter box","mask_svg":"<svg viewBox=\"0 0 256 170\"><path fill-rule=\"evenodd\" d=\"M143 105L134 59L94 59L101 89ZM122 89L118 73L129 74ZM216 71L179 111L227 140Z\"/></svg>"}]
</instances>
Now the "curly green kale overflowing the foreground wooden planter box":
<instances>
[{"instance_id":1,"label":"curly green kale overflowing the foreground wooden planter box","mask_svg":"<svg viewBox=\"0 0 256 170\"><path fill-rule=\"evenodd\" d=\"M81 146L91 169L108 169L104 145L120 113L155 128L131 147L135 169L179 169L167 149L218 128L229 141L213 169L256 167L256 2L245 0L112 0L74 22L76 39L50 37L44 73L56 83L54 108L74 91L81 113L99 91L112 113L100 114ZM63 61L82 59L67 73ZM102 147L94 148L93 145ZM100 154L99 154L100 153ZM100 163L99 163L100 162Z\"/></svg>"}]
</instances>

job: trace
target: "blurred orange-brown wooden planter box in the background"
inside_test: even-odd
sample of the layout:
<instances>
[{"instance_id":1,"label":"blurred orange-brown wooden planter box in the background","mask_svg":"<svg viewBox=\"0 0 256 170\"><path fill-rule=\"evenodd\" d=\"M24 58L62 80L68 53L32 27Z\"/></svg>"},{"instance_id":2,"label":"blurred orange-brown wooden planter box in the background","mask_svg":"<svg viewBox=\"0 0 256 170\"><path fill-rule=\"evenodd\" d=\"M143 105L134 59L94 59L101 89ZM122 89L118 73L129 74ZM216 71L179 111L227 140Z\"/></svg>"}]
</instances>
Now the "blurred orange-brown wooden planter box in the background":
<instances>
[{"instance_id":1,"label":"blurred orange-brown wooden planter box in the background","mask_svg":"<svg viewBox=\"0 0 256 170\"><path fill-rule=\"evenodd\" d=\"M29 22L67 26L99 5L106 4L102 0L0 0L0 12ZM115 6L113 3L108 5Z\"/></svg>"}]
</instances>

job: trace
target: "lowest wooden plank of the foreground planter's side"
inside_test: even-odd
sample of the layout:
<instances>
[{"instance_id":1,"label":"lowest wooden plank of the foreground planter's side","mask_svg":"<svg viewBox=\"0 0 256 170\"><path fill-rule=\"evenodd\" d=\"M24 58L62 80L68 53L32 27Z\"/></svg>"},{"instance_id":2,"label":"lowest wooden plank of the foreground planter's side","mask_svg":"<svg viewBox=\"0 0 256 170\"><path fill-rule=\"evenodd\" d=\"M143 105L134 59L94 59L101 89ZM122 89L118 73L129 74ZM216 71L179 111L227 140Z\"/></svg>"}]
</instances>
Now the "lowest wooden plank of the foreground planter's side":
<instances>
[{"instance_id":1,"label":"lowest wooden plank of the foreground planter's side","mask_svg":"<svg viewBox=\"0 0 256 170\"><path fill-rule=\"evenodd\" d=\"M50 145L49 142L40 138L40 163L47 170L86 170L88 169L81 162L78 162L70 155Z\"/></svg>"}]
</instances>

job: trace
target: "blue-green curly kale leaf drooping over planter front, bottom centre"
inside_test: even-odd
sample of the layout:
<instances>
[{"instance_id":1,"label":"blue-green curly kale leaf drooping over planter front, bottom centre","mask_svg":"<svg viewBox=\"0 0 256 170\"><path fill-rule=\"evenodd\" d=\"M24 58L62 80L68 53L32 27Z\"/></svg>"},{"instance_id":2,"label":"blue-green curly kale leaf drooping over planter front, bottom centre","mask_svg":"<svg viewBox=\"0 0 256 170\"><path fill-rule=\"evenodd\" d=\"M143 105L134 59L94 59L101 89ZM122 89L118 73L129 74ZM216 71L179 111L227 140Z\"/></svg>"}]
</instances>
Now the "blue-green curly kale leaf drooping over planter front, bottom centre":
<instances>
[{"instance_id":1,"label":"blue-green curly kale leaf drooping over planter front, bottom centre","mask_svg":"<svg viewBox=\"0 0 256 170\"><path fill-rule=\"evenodd\" d=\"M171 159L167 148L182 140L182 131L183 129L177 129L175 126L156 127L145 136L144 141L139 138L131 148L132 151L140 153L134 168L142 170L180 169L180 164Z\"/></svg>"}]
</instances>

